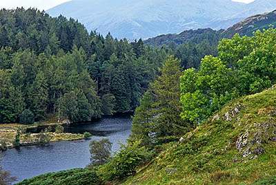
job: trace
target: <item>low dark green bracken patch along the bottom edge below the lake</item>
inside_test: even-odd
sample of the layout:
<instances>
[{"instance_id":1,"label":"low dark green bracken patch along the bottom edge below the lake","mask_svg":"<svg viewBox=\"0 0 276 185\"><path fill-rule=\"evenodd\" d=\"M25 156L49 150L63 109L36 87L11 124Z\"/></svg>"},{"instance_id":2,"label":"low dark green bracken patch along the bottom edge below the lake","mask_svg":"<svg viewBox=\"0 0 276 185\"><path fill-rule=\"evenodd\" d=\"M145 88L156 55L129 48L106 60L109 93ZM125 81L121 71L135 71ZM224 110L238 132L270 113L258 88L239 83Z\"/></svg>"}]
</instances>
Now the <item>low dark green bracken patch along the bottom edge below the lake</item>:
<instances>
[{"instance_id":1,"label":"low dark green bracken patch along the bottom edge below the lake","mask_svg":"<svg viewBox=\"0 0 276 185\"><path fill-rule=\"evenodd\" d=\"M23 182L17 183L18 185L97 185L103 184L97 175L96 171L89 171L86 168L75 168L68 171L59 171L57 173L46 173L31 179L25 179Z\"/></svg>"}]
</instances>

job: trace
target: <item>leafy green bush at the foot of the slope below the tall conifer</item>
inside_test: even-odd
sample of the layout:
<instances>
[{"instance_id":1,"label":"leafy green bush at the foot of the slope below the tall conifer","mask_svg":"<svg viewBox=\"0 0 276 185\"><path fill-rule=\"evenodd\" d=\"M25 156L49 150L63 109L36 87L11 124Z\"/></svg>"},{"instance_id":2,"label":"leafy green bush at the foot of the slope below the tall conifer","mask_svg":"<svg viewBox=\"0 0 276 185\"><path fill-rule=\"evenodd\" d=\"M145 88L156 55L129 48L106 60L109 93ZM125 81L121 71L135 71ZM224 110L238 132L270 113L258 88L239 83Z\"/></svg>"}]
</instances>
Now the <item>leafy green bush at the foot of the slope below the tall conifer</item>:
<instances>
[{"instance_id":1,"label":"leafy green bush at the foot of the slope below the tall conifer","mask_svg":"<svg viewBox=\"0 0 276 185\"><path fill-rule=\"evenodd\" d=\"M145 146L140 146L140 144L141 140L129 142L127 146L121 144L119 153L101 168L103 179L112 181L136 173L136 168L144 164L150 157Z\"/></svg>"}]
</instances>

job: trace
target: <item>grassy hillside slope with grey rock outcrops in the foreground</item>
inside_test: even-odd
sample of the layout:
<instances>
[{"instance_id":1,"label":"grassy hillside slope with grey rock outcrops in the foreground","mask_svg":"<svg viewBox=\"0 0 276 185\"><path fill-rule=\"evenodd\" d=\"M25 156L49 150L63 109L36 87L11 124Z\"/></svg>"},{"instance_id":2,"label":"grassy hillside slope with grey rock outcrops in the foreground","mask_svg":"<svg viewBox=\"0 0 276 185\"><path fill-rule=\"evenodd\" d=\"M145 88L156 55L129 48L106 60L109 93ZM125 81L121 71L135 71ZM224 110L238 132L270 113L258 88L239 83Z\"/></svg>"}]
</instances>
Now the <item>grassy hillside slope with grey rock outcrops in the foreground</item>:
<instances>
[{"instance_id":1,"label":"grassy hillside slope with grey rock outcrops in the foreground","mask_svg":"<svg viewBox=\"0 0 276 185\"><path fill-rule=\"evenodd\" d=\"M124 184L275 184L275 144L276 86L230 102Z\"/></svg>"}]
</instances>

